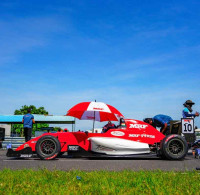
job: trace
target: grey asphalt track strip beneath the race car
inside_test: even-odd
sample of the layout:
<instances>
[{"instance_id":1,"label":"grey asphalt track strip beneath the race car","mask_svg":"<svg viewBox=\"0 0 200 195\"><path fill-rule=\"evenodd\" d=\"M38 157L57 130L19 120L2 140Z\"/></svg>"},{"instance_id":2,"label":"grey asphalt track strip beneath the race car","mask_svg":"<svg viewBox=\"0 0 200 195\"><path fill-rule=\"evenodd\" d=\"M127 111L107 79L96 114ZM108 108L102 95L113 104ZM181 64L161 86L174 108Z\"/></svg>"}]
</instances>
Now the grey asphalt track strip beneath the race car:
<instances>
[{"instance_id":1,"label":"grey asphalt track strip beneath the race car","mask_svg":"<svg viewBox=\"0 0 200 195\"><path fill-rule=\"evenodd\" d=\"M38 158L16 159L6 157L6 150L0 150L0 169L43 169L49 170L195 170L200 167L200 159L195 159L192 154L188 154L182 161L161 160L159 158L145 159L87 159L87 158L62 158L50 161L40 160Z\"/></svg>"}]
</instances>

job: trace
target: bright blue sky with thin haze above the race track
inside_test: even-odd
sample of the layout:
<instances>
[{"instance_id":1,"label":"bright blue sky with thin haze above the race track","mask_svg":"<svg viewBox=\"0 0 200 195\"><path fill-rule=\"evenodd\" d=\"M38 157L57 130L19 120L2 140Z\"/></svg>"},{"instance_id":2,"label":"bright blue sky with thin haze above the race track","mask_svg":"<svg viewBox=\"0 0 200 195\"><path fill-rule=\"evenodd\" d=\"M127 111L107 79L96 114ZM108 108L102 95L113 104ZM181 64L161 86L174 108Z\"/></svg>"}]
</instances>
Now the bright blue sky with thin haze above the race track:
<instances>
[{"instance_id":1,"label":"bright blue sky with thin haze above the race track","mask_svg":"<svg viewBox=\"0 0 200 195\"><path fill-rule=\"evenodd\" d=\"M0 0L0 114L94 100L138 120L179 120L188 99L200 111L199 21L199 0Z\"/></svg>"}]
</instances>

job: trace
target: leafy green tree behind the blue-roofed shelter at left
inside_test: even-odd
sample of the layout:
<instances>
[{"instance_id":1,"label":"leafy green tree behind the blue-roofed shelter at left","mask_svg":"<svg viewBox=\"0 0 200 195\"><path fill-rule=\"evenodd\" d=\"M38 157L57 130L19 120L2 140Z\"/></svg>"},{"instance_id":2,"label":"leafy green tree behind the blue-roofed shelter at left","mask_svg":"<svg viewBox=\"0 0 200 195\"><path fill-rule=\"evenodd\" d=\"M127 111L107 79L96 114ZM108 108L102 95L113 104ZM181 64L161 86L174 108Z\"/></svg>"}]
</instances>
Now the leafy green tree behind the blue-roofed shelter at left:
<instances>
[{"instance_id":1,"label":"leafy green tree behind the blue-roofed shelter at left","mask_svg":"<svg viewBox=\"0 0 200 195\"><path fill-rule=\"evenodd\" d=\"M48 112L44 109L44 107L36 108L34 105L24 105L19 110L15 110L14 115L24 115L28 113L28 110L31 109L31 114L43 114L48 115ZM49 127L46 123L37 123L37 130L40 130L42 127ZM15 133L20 134L23 136L23 124L16 124L13 125L13 129ZM33 131L32 133L35 135L36 131L36 124L33 124Z\"/></svg>"}]
</instances>

